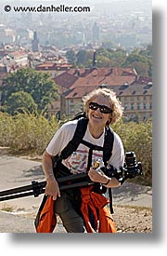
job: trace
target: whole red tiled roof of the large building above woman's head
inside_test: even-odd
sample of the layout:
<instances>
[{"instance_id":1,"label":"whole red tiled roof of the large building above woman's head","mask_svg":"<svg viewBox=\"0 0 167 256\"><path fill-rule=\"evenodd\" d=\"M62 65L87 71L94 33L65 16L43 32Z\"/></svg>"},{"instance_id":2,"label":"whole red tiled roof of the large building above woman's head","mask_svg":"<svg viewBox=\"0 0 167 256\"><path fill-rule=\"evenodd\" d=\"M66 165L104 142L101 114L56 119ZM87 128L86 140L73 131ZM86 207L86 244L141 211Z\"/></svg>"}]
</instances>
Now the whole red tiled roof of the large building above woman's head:
<instances>
[{"instance_id":1,"label":"whole red tiled roof of the large building above woman's head","mask_svg":"<svg viewBox=\"0 0 167 256\"><path fill-rule=\"evenodd\" d=\"M64 94L66 99L83 98L103 84L112 88L118 96L132 94L135 90L142 94L144 86L151 81L150 77L137 75L133 68L117 67L71 69L55 78L59 86L69 89Z\"/></svg>"}]
</instances>

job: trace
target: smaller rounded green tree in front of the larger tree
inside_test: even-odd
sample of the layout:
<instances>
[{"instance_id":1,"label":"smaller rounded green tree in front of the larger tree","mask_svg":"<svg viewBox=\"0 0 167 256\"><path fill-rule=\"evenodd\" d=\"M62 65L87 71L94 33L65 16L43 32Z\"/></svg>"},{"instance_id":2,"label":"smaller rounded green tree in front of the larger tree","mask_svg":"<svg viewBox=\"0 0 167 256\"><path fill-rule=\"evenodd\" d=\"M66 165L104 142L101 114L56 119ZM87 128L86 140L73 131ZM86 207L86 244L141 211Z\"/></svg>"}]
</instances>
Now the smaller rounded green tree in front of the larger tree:
<instances>
[{"instance_id":1,"label":"smaller rounded green tree in front of the larger tree","mask_svg":"<svg viewBox=\"0 0 167 256\"><path fill-rule=\"evenodd\" d=\"M32 99L30 93L25 91L13 92L6 101L5 112L10 115L23 113L25 110L29 113L34 113L37 110L37 105Z\"/></svg>"}]
</instances>

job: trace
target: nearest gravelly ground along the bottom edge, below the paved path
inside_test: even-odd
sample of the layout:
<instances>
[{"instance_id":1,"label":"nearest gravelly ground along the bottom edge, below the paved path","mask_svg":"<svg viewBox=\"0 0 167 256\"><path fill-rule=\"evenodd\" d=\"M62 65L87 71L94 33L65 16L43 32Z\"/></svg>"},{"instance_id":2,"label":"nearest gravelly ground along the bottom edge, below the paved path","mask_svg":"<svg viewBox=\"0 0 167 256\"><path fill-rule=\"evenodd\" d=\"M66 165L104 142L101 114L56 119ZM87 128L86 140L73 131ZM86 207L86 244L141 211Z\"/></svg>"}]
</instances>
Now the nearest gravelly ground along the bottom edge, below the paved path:
<instances>
[{"instance_id":1,"label":"nearest gravelly ground along the bottom edge, below the paved path","mask_svg":"<svg viewBox=\"0 0 167 256\"><path fill-rule=\"evenodd\" d=\"M7 212L0 210L1 233L34 233L33 212L17 211ZM114 206L113 220L118 233L151 233L152 232L152 210L143 207ZM65 233L60 219L54 233Z\"/></svg>"}]
</instances>

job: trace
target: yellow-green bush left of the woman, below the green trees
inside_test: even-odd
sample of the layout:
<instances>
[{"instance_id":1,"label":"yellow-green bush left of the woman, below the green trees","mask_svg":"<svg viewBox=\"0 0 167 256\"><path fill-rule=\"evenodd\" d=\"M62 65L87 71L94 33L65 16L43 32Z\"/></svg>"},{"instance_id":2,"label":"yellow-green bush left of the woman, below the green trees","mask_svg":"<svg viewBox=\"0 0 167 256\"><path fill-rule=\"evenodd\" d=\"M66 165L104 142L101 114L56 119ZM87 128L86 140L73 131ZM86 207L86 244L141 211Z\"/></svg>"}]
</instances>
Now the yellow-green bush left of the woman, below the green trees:
<instances>
[{"instance_id":1,"label":"yellow-green bush left of the woman, below the green trees","mask_svg":"<svg viewBox=\"0 0 167 256\"><path fill-rule=\"evenodd\" d=\"M9 146L15 153L34 151L42 154L45 146L58 129L55 118L44 115L18 114L15 116L0 113L0 145Z\"/></svg>"}]
</instances>

